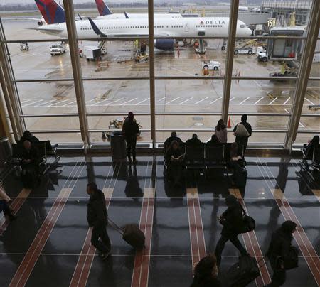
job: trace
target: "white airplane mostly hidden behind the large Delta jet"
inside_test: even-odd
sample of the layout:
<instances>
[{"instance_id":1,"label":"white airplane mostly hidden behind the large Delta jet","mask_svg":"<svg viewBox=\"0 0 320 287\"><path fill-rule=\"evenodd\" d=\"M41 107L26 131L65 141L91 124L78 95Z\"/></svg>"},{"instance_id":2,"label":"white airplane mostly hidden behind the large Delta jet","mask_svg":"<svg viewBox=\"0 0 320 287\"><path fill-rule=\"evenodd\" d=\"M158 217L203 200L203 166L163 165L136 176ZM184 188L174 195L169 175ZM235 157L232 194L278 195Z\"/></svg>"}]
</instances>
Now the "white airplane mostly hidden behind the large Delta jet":
<instances>
[{"instance_id":1,"label":"white airplane mostly hidden behind the large Delta jet","mask_svg":"<svg viewBox=\"0 0 320 287\"><path fill-rule=\"evenodd\" d=\"M96 20L126 18L124 13L112 13L107 4L105 4L104 0L95 0L95 4L97 4L97 9L100 14L100 16L97 16L97 18L95 18ZM147 18L148 13L127 13L127 16L129 18ZM154 18L181 18L181 13L154 13Z\"/></svg>"}]
</instances>

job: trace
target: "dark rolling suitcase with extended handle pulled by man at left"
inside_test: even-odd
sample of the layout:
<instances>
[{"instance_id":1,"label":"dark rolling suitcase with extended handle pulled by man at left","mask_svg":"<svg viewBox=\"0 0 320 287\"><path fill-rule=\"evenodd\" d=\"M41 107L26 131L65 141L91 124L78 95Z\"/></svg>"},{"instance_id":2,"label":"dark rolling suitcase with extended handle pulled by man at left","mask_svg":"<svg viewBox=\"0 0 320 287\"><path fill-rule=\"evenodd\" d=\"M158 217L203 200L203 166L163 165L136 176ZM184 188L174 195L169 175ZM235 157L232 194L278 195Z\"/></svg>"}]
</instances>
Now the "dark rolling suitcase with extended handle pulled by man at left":
<instances>
[{"instance_id":1,"label":"dark rolling suitcase with extended handle pulled by man at left","mask_svg":"<svg viewBox=\"0 0 320 287\"><path fill-rule=\"evenodd\" d=\"M122 235L122 239L130 244L134 249L143 249L146 237L137 225L127 224L123 229L108 218L110 226Z\"/></svg>"}]
</instances>

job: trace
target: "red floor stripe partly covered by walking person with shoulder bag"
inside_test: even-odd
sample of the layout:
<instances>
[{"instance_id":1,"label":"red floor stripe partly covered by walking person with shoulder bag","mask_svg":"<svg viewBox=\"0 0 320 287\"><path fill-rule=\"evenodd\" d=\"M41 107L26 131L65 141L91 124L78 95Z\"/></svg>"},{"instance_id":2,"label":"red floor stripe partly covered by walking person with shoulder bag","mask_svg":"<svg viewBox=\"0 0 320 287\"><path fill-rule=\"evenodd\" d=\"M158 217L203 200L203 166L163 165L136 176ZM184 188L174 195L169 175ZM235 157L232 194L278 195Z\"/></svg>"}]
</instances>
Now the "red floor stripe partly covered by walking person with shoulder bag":
<instances>
[{"instance_id":1,"label":"red floor stripe partly covered by walking person with shoulder bag","mask_svg":"<svg viewBox=\"0 0 320 287\"><path fill-rule=\"evenodd\" d=\"M235 197L238 198L239 202L241 203L243 209L245 212L247 212L247 207L245 206L245 200L243 200L242 195L240 193L240 190L238 189L230 189L229 190L230 194L235 195ZM248 212L247 212L248 214ZM257 236L254 231L252 232L247 232L242 234L243 241L245 242L245 246L247 247L247 251L255 256L255 259L259 261L260 259L263 258L262 251L260 249L259 242L257 241ZM262 261L260 261L259 265L262 265ZM255 279L255 283L258 287L260 286L265 286L270 283L271 278L269 271L267 269L266 265L263 265L260 269L260 274L258 278Z\"/></svg>"}]
</instances>

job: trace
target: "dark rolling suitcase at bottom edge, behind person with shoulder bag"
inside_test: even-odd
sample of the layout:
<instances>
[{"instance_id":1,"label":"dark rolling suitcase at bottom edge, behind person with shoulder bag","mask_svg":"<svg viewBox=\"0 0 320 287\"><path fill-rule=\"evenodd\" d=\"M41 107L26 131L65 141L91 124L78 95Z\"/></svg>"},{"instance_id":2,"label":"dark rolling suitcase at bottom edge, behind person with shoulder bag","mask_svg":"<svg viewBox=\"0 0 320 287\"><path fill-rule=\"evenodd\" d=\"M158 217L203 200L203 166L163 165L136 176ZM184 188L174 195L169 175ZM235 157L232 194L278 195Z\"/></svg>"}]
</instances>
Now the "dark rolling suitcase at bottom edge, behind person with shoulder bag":
<instances>
[{"instance_id":1,"label":"dark rolling suitcase at bottom edge, behind person with shoulder bag","mask_svg":"<svg viewBox=\"0 0 320 287\"><path fill-rule=\"evenodd\" d=\"M262 258L263 259L263 258ZM262 260L261 259L261 260ZM260 260L260 261L261 261ZM258 261L258 262L260 262ZM245 287L260 276L260 267L255 258L251 256L240 256L239 262L230 267L227 272L228 287Z\"/></svg>"}]
</instances>

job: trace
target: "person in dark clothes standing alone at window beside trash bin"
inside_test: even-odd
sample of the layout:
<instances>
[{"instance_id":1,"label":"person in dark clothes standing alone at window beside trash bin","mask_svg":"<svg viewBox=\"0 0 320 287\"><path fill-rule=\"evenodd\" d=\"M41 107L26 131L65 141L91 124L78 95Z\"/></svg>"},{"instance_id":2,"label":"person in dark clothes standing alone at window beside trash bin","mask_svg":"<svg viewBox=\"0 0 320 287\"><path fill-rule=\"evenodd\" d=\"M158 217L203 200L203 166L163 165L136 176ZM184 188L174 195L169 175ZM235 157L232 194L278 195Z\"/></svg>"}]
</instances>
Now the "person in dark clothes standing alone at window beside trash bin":
<instances>
[{"instance_id":1,"label":"person in dark clothes standing alone at window beside trash bin","mask_svg":"<svg viewBox=\"0 0 320 287\"><path fill-rule=\"evenodd\" d=\"M136 159L136 144L137 144L137 135L139 134L139 124L137 124L136 119L134 119L134 114L129 112L128 117L124 120L122 126L122 135L127 141L127 156L128 160L131 160L131 153L133 161L137 162Z\"/></svg>"}]
</instances>

